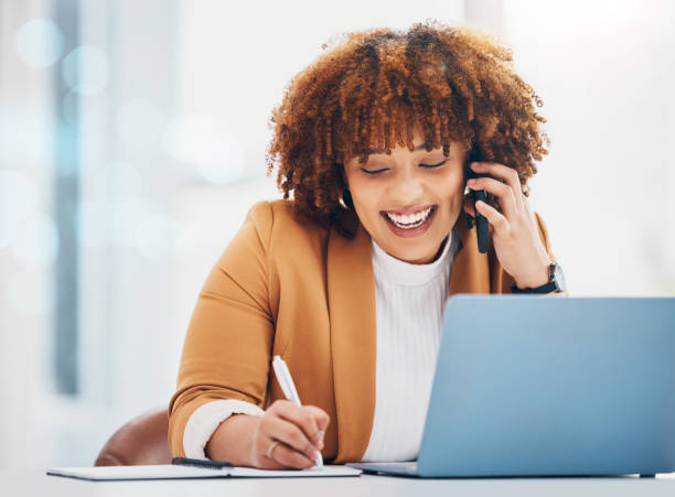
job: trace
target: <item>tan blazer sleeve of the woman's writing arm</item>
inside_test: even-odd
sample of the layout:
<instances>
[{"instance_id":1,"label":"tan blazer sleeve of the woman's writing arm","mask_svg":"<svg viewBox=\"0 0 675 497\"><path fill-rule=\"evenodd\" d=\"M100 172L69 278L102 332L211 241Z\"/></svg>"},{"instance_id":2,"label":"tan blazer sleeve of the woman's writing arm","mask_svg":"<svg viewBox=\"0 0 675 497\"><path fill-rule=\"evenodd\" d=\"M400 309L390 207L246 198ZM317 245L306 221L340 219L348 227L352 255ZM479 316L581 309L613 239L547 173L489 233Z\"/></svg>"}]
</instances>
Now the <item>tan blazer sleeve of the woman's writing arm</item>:
<instances>
[{"instance_id":1,"label":"tan blazer sleeve of the woman's writing arm","mask_svg":"<svg viewBox=\"0 0 675 497\"><path fill-rule=\"evenodd\" d=\"M174 456L185 456L185 424L201 406L226 399L265 404L274 342L267 251L271 225L269 202L255 204L199 294L169 403Z\"/></svg>"}]
</instances>

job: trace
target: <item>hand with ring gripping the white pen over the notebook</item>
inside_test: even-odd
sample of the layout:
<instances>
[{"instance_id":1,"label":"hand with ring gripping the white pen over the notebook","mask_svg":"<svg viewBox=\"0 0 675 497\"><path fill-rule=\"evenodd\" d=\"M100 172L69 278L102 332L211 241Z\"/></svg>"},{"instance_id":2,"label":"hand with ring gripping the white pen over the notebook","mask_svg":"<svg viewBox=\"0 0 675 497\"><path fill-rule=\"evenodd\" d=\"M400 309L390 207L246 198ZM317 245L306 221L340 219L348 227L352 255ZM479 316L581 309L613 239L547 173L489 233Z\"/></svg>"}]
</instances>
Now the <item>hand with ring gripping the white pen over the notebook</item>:
<instances>
[{"instance_id":1,"label":"hand with ring gripping the white pen over the notebook","mask_svg":"<svg viewBox=\"0 0 675 497\"><path fill-rule=\"evenodd\" d=\"M290 400L276 400L253 431L250 460L261 469L304 469L314 466L318 451L330 418L314 406L296 406ZM276 444L270 456L267 452Z\"/></svg>"}]
</instances>

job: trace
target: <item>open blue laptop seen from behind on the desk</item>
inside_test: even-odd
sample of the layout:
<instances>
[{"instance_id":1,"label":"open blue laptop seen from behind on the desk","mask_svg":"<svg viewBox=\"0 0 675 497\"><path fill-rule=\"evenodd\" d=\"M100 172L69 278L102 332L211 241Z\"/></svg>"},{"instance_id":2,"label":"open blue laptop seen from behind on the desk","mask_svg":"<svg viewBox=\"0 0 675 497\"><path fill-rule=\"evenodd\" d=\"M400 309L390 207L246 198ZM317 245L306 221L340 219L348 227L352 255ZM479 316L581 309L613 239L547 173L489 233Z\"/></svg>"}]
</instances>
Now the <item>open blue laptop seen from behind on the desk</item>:
<instances>
[{"instance_id":1,"label":"open blue laptop seen from behind on the desk","mask_svg":"<svg viewBox=\"0 0 675 497\"><path fill-rule=\"evenodd\" d=\"M675 299L456 295L417 477L675 472Z\"/></svg>"}]
</instances>

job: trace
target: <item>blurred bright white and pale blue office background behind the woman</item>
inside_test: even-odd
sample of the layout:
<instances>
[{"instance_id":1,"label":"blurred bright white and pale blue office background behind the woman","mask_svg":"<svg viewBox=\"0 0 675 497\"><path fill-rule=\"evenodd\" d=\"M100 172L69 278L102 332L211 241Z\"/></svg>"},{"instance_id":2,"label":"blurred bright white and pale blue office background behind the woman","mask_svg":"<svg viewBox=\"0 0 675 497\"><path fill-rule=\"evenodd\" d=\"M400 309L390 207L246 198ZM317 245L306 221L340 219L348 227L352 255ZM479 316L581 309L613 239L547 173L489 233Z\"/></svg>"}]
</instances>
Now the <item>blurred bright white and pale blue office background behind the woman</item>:
<instances>
[{"instance_id":1,"label":"blurred bright white and pale blue office background behind the woman","mask_svg":"<svg viewBox=\"0 0 675 497\"><path fill-rule=\"evenodd\" d=\"M501 36L544 100L532 183L572 295L675 294L663 0L1 0L0 467L90 465L165 406L197 292L265 176L272 107L332 35Z\"/></svg>"}]
</instances>

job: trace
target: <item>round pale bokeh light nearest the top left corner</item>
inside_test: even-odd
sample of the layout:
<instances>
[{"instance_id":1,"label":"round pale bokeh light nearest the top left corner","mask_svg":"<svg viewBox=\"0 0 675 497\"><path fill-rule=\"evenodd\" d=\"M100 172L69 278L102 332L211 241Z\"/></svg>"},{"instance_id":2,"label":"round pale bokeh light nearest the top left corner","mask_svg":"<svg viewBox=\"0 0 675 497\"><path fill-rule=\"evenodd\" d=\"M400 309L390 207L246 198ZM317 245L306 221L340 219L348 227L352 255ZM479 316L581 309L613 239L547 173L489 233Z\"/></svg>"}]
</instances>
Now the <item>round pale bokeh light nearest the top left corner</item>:
<instances>
[{"instance_id":1,"label":"round pale bokeh light nearest the top left corner","mask_svg":"<svg viewBox=\"0 0 675 497\"><path fill-rule=\"evenodd\" d=\"M17 30L14 52L31 67L50 67L63 53L61 29L50 19L32 19Z\"/></svg>"}]
</instances>

